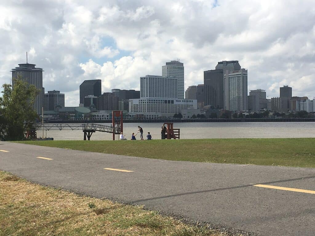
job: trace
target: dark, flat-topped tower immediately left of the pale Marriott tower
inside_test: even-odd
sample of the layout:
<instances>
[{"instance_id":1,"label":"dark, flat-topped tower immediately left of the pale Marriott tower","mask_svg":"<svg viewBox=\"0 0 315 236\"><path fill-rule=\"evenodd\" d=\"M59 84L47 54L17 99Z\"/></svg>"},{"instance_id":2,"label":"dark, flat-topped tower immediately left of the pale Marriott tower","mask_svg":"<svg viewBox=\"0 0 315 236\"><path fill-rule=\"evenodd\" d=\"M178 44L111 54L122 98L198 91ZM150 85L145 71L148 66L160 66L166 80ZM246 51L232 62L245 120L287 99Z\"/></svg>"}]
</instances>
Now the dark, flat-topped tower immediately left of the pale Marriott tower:
<instances>
[{"instance_id":1,"label":"dark, flat-topped tower immediately left of the pale Marriott tower","mask_svg":"<svg viewBox=\"0 0 315 236\"><path fill-rule=\"evenodd\" d=\"M203 71L204 105L224 108L223 70Z\"/></svg>"}]
</instances>

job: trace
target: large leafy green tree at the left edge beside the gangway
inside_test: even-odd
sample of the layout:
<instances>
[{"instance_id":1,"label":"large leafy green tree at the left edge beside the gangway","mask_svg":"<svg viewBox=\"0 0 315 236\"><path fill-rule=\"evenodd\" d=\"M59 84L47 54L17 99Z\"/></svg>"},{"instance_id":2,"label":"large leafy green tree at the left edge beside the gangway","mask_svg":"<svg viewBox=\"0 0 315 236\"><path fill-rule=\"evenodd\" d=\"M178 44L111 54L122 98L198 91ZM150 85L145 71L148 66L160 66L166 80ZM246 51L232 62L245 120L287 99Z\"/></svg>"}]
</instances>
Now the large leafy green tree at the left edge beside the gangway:
<instances>
[{"instance_id":1,"label":"large leafy green tree at the left edge beside the gangway","mask_svg":"<svg viewBox=\"0 0 315 236\"><path fill-rule=\"evenodd\" d=\"M3 84L0 97L0 114L2 122L2 140L22 140L24 133L31 128L38 115L33 110L34 100L39 93L34 85L22 81L21 77L14 79L14 89L11 84Z\"/></svg>"}]
</instances>

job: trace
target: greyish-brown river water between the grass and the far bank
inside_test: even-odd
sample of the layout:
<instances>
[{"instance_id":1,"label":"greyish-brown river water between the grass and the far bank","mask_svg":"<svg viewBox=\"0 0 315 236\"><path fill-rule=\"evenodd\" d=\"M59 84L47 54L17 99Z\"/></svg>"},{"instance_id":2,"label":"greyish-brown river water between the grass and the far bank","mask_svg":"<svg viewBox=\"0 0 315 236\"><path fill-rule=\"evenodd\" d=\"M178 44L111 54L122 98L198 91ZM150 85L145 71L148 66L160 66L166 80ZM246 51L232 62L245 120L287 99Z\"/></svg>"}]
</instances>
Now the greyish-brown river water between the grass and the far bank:
<instances>
[{"instance_id":1,"label":"greyish-brown river water between the grass and the far bank","mask_svg":"<svg viewBox=\"0 0 315 236\"><path fill-rule=\"evenodd\" d=\"M102 123L103 125L110 125ZM138 125L143 128L143 135L150 132L153 139L161 138L162 123L124 123L123 131L127 139L132 132L137 132ZM174 123L180 129L181 139L199 138L315 138L315 122L204 122ZM37 137L42 137L37 131ZM44 131L44 137L46 132ZM50 130L47 137L54 140L83 140L82 130ZM136 136L140 139L140 134ZM118 135L116 135L118 139ZM146 138L145 138L146 139ZM112 140L112 134L95 132L91 140Z\"/></svg>"}]
</instances>

